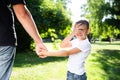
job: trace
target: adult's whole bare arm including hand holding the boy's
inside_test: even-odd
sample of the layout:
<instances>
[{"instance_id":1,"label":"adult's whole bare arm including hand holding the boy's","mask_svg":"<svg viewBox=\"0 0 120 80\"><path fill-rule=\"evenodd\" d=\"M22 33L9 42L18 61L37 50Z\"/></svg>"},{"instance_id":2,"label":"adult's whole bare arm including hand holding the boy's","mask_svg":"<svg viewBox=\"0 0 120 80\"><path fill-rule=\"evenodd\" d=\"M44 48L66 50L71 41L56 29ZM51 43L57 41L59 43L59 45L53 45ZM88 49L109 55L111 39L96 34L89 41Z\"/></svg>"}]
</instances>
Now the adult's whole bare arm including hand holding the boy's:
<instances>
[{"instance_id":1,"label":"adult's whole bare arm including hand holding the boy's","mask_svg":"<svg viewBox=\"0 0 120 80\"><path fill-rule=\"evenodd\" d=\"M27 7L24 4L16 4L16 5L13 5L13 10L15 12L17 19L22 24L23 28L35 41L37 54L40 52L41 49L47 50L38 33L38 30L32 18L32 15L30 14Z\"/></svg>"}]
</instances>

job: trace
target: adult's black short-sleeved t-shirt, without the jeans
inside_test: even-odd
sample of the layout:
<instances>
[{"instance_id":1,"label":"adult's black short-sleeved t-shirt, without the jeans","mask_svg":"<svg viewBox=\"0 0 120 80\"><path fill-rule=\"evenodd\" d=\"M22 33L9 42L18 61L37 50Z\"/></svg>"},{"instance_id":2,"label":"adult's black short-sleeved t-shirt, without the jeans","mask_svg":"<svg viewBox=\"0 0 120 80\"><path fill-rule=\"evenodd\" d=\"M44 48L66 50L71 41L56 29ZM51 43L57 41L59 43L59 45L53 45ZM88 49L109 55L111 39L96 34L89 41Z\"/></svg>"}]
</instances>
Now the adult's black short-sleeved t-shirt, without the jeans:
<instances>
[{"instance_id":1,"label":"adult's black short-sleeved t-shirt, without the jeans","mask_svg":"<svg viewBox=\"0 0 120 80\"><path fill-rule=\"evenodd\" d=\"M0 46L15 46L16 33L11 5L25 4L24 0L0 0Z\"/></svg>"}]
</instances>

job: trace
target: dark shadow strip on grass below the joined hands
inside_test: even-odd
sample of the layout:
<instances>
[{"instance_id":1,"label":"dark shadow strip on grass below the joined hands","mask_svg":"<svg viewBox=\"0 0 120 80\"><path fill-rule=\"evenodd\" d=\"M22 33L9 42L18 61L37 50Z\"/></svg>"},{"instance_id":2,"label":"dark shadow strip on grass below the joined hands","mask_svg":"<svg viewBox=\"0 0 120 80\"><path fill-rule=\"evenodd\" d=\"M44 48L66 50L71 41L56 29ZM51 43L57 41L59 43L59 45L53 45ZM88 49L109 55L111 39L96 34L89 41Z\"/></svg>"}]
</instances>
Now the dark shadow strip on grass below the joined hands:
<instances>
[{"instance_id":1,"label":"dark shadow strip on grass below the joined hands","mask_svg":"<svg viewBox=\"0 0 120 80\"><path fill-rule=\"evenodd\" d=\"M18 53L16 54L14 67L30 67L37 64L44 64L48 62L55 61L63 61L66 60L67 57L47 57L47 58L39 58L35 52L26 52L26 53Z\"/></svg>"}]
</instances>

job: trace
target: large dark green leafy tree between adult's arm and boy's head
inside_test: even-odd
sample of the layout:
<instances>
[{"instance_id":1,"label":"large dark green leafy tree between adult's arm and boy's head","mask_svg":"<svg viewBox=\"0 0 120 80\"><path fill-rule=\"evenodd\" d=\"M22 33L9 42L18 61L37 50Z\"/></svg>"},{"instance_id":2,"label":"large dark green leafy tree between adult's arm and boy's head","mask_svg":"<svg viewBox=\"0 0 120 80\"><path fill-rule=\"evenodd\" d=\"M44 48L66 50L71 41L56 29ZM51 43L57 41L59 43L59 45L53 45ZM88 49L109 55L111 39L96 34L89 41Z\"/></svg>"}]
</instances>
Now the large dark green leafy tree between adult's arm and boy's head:
<instances>
[{"instance_id":1,"label":"large dark green leafy tree between adult's arm and boy's head","mask_svg":"<svg viewBox=\"0 0 120 80\"><path fill-rule=\"evenodd\" d=\"M64 6L62 1L43 0L41 5L31 9L40 34L46 33L48 29L55 29L55 34L61 36L60 30L71 25L70 15ZM45 38L49 38L49 35Z\"/></svg>"}]
</instances>

